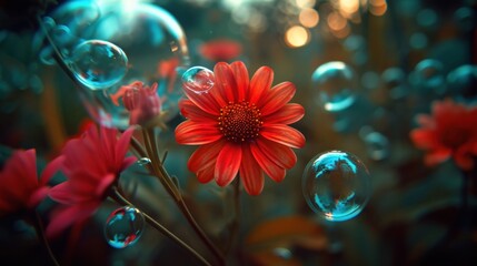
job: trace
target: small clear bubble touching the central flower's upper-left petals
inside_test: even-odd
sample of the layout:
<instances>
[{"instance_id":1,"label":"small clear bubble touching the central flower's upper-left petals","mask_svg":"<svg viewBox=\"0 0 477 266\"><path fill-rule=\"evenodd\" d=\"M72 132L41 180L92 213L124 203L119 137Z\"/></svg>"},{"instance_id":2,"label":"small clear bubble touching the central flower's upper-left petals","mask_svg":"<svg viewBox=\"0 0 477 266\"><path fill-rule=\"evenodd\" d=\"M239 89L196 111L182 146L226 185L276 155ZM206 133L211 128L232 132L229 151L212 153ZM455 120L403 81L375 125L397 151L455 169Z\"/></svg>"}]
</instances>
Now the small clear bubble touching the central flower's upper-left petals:
<instances>
[{"instance_id":1,"label":"small clear bubble touching the central flower's upper-left petals","mask_svg":"<svg viewBox=\"0 0 477 266\"><path fill-rule=\"evenodd\" d=\"M182 74L182 88L198 94L212 89L213 82L213 72L203 66L192 66Z\"/></svg>"}]
</instances>

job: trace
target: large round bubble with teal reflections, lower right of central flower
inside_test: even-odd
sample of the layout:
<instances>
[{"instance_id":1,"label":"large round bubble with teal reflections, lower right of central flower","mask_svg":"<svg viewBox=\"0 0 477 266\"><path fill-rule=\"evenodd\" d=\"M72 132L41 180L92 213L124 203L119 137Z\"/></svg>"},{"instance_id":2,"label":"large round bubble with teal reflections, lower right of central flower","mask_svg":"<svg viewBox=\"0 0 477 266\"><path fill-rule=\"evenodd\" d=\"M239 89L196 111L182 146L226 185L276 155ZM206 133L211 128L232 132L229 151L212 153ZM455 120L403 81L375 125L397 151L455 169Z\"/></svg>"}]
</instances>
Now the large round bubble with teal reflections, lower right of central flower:
<instances>
[{"instance_id":1,"label":"large round bubble with teal reflections, lower right of central flower","mask_svg":"<svg viewBox=\"0 0 477 266\"><path fill-rule=\"evenodd\" d=\"M355 217L370 196L368 170L355 155L340 151L311 158L301 185L310 208L331 222Z\"/></svg>"}]
</instances>

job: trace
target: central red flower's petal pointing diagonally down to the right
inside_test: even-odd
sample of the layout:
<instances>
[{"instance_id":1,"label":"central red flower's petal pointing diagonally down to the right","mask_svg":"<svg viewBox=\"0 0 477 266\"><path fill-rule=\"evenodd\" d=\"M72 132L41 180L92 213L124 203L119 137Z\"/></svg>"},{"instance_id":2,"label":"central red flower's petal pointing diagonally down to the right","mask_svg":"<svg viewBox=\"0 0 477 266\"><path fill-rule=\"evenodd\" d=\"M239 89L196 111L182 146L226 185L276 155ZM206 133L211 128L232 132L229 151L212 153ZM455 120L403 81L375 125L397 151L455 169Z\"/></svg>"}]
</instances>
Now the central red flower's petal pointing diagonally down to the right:
<instances>
[{"instance_id":1,"label":"central red flower's petal pointing diagonally down to the right","mask_svg":"<svg viewBox=\"0 0 477 266\"><path fill-rule=\"evenodd\" d=\"M264 137L257 140L257 145L271 162L282 168L291 168L297 163L297 155L288 146L268 141Z\"/></svg>"}]
</instances>

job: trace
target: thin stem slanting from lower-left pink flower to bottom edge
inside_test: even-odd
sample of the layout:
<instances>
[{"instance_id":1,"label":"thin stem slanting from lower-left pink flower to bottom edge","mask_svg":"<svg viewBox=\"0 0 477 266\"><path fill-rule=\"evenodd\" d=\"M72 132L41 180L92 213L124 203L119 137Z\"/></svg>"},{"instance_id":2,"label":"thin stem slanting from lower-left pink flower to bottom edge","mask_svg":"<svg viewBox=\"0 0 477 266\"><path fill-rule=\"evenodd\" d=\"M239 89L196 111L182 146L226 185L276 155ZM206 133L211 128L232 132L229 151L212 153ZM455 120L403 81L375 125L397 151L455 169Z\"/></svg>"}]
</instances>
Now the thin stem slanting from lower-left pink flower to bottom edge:
<instances>
[{"instance_id":1,"label":"thin stem slanting from lower-left pink flower to bottom edge","mask_svg":"<svg viewBox=\"0 0 477 266\"><path fill-rule=\"evenodd\" d=\"M126 200L126 197L123 197L121 195L121 193L117 190L113 188L112 190L113 193L111 196L112 200L115 200L118 204L121 205L128 205L131 207L135 207L135 205L132 203L130 203L128 200ZM136 208L136 207L135 207ZM151 216L149 216L147 213L142 212L142 215L145 216L146 221L157 231L159 231L160 233L162 233L163 235L166 235L167 237L169 237L170 239L172 239L173 242L176 242L178 245L180 245L181 247L183 247L185 249L187 249L190 254L192 254L197 259L199 259L203 265L208 265L211 266L211 264L209 262L207 262L200 254L198 254L192 247L190 247L189 245L187 245L185 242L182 242L179 237L177 237L173 233L171 233L170 231L168 231L166 227L163 227L159 222L157 222L155 218L152 218Z\"/></svg>"}]
</instances>

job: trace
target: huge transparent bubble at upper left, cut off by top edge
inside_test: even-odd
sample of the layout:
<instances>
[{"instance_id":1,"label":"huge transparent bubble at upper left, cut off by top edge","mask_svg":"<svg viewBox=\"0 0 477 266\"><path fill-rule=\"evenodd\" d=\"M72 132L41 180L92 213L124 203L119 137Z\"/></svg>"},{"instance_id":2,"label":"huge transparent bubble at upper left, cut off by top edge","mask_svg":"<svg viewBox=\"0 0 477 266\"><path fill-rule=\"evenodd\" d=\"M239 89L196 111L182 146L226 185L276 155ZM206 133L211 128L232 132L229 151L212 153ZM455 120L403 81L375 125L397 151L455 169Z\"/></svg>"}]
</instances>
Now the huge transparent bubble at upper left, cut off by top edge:
<instances>
[{"instance_id":1,"label":"huge transparent bubble at upper left, cut off by top edge","mask_svg":"<svg viewBox=\"0 0 477 266\"><path fill-rule=\"evenodd\" d=\"M167 121L178 114L181 72L189 66L186 35L160 7L138 1L70 1L44 18L53 45L39 52L57 60L79 84L90 115L106 126L126 129L130 113L122 96L135 82L158 84ZM113 100L112 100L113 99Z\"/></svg>"}]
</instances>

